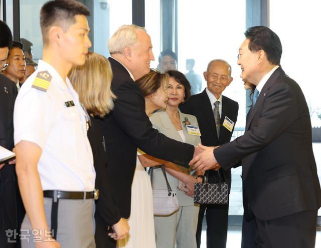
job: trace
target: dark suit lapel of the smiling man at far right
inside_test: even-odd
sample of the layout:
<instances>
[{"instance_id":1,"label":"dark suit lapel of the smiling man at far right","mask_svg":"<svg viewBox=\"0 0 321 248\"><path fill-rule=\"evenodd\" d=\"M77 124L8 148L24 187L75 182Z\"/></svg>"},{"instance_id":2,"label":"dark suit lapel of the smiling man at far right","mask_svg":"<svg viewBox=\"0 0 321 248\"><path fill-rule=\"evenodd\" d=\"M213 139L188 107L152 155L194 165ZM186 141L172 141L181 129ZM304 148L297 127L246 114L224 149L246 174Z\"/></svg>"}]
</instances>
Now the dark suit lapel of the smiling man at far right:
<instances>
[{"instance_id":1,"label":"dark suit lapel of the smiling man at far right","mask_svg":"<svg viewBox=\"0 0 321 248\"><path fill-rule=\"evenodd\" d=\"M273 85L275 80L281 75L284 74L283 70L279 67L275 70L275 72L272 73L271 77L266 81L265 85L263 86L259 97L256 100L256 103L251 107L250 111L248 112L246 116L246 125L245 125L245 131L248 130L248 128L251 125L251 122L253 120L253 117L255 116L258 109L261 108L262 103L264 102L265 96L268 94L268 89Z\"/></svg>"}]
</instances>

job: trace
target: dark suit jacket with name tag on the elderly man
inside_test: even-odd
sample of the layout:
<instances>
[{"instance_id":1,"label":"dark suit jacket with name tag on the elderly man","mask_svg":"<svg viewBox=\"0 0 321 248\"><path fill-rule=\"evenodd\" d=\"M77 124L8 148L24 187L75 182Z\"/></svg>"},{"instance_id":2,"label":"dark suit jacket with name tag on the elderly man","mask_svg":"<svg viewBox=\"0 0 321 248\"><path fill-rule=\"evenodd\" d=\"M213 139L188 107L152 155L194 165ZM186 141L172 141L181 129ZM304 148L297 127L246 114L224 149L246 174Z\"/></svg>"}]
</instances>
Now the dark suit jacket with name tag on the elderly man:
<instances>
[{"instance_id":1,"label":"dark suit jacket with name tag on the elderly man","mask_svg":"<svg viewBox=\"0 0 321 248\"><path fill-rule=\"evenodd\" d=\"M234 123L236 123L239 110L239 105L237 102L228 97L222 96L220 139L218 139L217 137L213 108L211 106L211 102L206 93L206 90L204 90L200 94L192 96L190 100L181 105L180 109L184 113L196 116L200 125L200 131L202 134L201 140L203 145L218 146L225 144L231 140L234 127L232 132L230 132L227 128L223 127L223 122L225 117L228 117ZM218 182L217 171L209 170L207 173L209 182ZM225 171L220 169L220 174L224 175L224 179L229 185L229 190L231 190L231 170Z\"/></svg>"}]
</instances>

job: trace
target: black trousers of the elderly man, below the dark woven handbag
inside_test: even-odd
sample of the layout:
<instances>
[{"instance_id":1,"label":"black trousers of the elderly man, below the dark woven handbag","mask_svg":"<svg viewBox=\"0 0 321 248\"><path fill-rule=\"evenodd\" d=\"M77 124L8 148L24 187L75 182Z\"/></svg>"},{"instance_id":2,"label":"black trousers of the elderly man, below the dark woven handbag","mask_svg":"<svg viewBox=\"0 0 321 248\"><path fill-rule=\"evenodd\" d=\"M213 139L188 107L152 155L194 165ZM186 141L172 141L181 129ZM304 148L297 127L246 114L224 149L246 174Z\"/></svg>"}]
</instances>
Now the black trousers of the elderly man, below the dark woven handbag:
<instances>
[{"instance_id":1,"label":"black trousers of the elderly man, below the dark woven handbag","mask_svg":"<svg viewBox=\"0 0 321 248\"><path fill-rule=\"evenodd\" d=\"M226 248L229 206L218 204L200 205L199 219L196 231L197 247L201 247L202 223L206 215L206 243L207 248Z\"/></svg>"}]
</instances>

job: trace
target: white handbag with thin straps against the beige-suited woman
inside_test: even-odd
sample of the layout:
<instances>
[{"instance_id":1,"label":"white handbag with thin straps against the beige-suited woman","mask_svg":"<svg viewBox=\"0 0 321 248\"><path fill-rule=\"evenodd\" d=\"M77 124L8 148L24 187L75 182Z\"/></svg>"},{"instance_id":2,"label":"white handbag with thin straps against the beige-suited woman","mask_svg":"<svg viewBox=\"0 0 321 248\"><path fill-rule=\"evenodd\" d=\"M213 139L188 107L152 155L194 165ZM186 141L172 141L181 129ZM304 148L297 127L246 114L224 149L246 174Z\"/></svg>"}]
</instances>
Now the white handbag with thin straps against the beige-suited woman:
<instances>
[{"instance_id":1,"label":"white handbag with thin straps against the beige-suited woman","mask_svg":"<svg viewBox=\"0 0 321 248\"><path fill-rule=\"evenodd\" d=\"M164 165L161 165L161 169L165 176L167 189L152 189L154 215L170 215L180 208L180 204L177 199L176 192L172 191L170 183L167 179ZM153 167L150 167L148 174L150 175L151 183L152 171Z\"/></svg>"}]
</instances>

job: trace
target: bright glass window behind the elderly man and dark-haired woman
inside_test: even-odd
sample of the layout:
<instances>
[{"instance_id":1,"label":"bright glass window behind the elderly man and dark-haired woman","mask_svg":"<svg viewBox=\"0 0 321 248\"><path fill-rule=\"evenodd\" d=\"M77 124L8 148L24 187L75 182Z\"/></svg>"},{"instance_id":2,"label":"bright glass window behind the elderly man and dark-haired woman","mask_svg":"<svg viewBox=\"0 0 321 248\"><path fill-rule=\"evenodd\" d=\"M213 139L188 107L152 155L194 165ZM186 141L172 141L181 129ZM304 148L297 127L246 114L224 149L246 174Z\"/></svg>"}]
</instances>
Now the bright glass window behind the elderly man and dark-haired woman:
<instances>
[{"instance_id":1,"label":"bright glass window behind the elderly man and dark-haired woman","mask_svg":"<svg viewBox=\"0 0 321 248\"><path fill-rule=\"evenodd\" d=\"M243 33L246 1L178 0L177 6L168 6L173 8L172 10L164 9L166 2L169 1L145 1L145 28L151 37L155 57L151 67L158 67L159 53L166 47L164 36L173 30L177 30L177 33L174 32L172 35L172 50L178 55L178 70L188 73L186 60L194 59L193 70L202 78L201 90L206 87L203 72L206 71L208 63L213 59L226 60L232 66L234 80L226 88L224 95L239 103L236 127L245 127L245 90L240 79L241 71L236 64L236 56L245 39ZM230 8L231 5L233 8ZM177 17L173 18L172 24L162 27L164 16L168 16L168 13L164 14L167 11L173 12L174 16L177 13ZM176 44L177 51L174 51Z\"/></svg>"}]
</instances>

